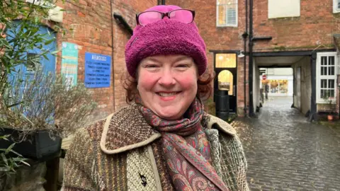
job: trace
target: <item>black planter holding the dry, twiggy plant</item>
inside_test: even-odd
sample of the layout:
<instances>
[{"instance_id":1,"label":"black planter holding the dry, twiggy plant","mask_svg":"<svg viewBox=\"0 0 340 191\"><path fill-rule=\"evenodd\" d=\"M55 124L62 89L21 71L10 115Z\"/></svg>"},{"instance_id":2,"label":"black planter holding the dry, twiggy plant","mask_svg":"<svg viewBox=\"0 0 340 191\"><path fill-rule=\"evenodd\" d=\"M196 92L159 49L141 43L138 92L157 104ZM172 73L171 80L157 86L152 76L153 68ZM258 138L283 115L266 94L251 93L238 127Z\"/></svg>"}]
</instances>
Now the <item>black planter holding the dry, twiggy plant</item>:
<instances>
[{"instance_id":1,"label":"black planter holding the dry, twiggy plant","mask_svg":"<svg viewBox=\"0 0 340 191\"><path fill-rule=\"evenodd\" d=\"M0 136L11 134L11 137L18 139L20 131L16 129L0 128ZM11 138L9 137L9 138ZM7 149L14 141L6 141L0 139L0 148ZM32 158L38 161L48 161L51 158L60 156L62 147L62 139L55 137L50 138L47 131L38 131L28 135L26 141L17 143L13 150L21 154L25 158Z\"/></svg>"}]
</instances>

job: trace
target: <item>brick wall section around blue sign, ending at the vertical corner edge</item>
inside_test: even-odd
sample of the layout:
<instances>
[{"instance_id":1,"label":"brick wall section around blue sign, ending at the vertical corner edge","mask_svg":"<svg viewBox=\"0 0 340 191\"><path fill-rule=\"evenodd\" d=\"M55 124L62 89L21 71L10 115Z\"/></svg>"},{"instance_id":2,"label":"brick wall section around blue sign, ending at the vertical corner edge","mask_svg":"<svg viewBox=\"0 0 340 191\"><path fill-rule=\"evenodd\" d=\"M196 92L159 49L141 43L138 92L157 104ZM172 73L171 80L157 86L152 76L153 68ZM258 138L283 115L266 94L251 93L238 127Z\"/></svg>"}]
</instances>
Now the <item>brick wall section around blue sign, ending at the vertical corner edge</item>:
<instances>
[{"instance_id":1,"label":"brick wall section around blue sign, ending at the vertical corner edge","mask_svg":"<svg viewBox=\"0 0 340 191\"><path fill-rule=\"evenodd\" d=\"M110 1L79 0L79 3L60 5L66 11L62 26L69 30L66 35L58 33L57 45L72 42L79 45L78 80L84 82L85 52L112 56ZM61 55L61 52L60 52ZM61 69L61 58L57 59L57 72ZM113 77L111 76L111 79ZM91 88L94 91L98 110L94 118L105 117L114 110L113 83L110 88Z\"/></svg>"}]
</instances>

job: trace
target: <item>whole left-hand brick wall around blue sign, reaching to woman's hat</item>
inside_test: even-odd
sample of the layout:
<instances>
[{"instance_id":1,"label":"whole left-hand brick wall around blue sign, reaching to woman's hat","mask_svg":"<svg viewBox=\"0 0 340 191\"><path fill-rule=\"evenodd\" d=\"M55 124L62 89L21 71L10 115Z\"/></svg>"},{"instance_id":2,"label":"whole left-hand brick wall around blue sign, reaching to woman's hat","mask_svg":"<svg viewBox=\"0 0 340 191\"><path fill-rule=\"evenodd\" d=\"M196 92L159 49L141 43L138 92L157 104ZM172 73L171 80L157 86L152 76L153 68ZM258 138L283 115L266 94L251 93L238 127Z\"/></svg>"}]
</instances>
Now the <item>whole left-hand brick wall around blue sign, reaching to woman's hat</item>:
<instances>
[{"instance_id":1,"label":"whole left-hand brick wall around blue sign, reaching to woman's hat","mask_svg":"<svg viewBox=\"0 0 340 191\"><path fill-rule=\"evenodd\" d=\"M145 1L112 1L113 13L120 13L134 28L135 13L144 11L150 6L157 5L157 0ZM125 71L125 44L130 35L113 20L111 23L110 0L79 0L77 3L67 1L62 5L64 20L62 25L69 30L67 35L57 35L57 45L62 42L72 42L79 45L78 79L84 81L85 52L106 54L112 57L111 86L109 88L91 88L94 91L98 110L94 118L106 117L109 113L126 105L125 91L121 86L120 79ZM113 33L112 33L113 31ZM113 35L111 35L113 34ZM112 45L113 37L113 45ZM61 55L61 52L60 52ZM57 72L61 69L61 58L57 59Z\"/></svg>"}]
</instances>

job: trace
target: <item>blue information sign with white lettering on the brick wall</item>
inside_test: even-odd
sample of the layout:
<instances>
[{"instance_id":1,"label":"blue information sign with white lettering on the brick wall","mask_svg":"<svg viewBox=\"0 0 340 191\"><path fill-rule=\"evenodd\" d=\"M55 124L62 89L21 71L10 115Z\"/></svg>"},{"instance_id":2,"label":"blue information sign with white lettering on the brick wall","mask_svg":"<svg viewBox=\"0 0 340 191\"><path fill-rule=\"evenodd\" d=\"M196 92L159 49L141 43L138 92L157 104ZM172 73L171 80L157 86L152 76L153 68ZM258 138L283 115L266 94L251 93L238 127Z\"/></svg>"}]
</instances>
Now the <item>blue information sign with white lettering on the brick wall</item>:
<instances>
[{"instance_id":1,"label":"blue information sign with white lettering on the brick wall","mask_svg":"<svg viewBox=\"0 0 340 191\"><path fill-rule=\"evenodd\" d=\"M86 88L107 88L111 82L111 57L102 54L85 53Z\"/></svg>"}]
</instances>

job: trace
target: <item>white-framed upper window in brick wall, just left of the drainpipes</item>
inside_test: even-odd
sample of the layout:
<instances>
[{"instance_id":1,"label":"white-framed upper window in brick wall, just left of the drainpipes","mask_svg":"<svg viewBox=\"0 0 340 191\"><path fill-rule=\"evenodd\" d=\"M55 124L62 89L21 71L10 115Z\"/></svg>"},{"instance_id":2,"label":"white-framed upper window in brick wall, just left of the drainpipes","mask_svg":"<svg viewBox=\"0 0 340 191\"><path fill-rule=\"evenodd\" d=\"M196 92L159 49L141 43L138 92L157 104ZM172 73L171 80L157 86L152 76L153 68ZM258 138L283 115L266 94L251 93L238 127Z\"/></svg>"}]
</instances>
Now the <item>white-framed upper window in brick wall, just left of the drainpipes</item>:
<instances>
[{"instance_id":1,"label":"white-framed upper window in brick wall, just left of the drainpipes","mask_svg":"<svg viewBox=\"0 0 340 191\"><path fill-rule=\"evenodd\" d=\"M217 26L237 26L237 0L217 0Z\"/></svg>"}]
</instances>

